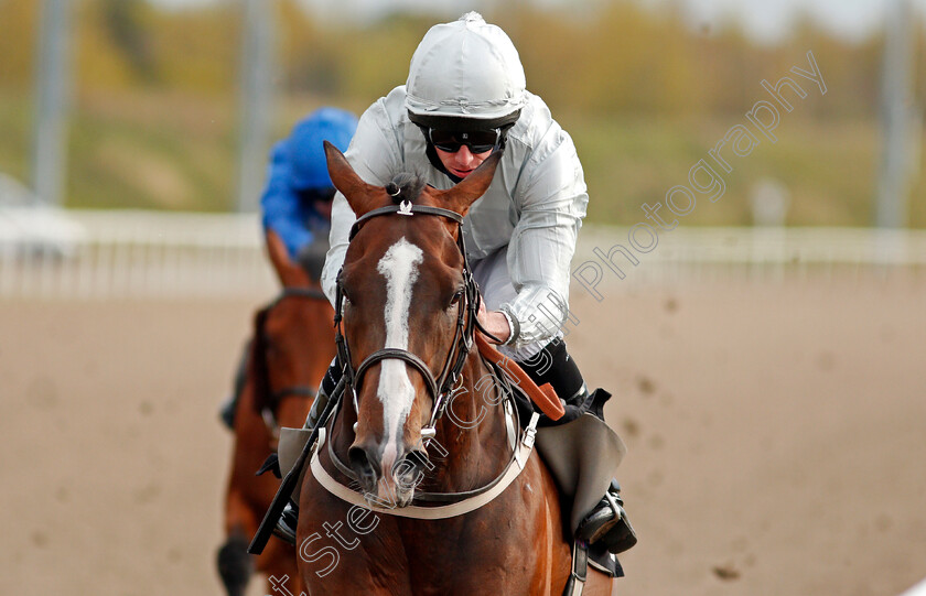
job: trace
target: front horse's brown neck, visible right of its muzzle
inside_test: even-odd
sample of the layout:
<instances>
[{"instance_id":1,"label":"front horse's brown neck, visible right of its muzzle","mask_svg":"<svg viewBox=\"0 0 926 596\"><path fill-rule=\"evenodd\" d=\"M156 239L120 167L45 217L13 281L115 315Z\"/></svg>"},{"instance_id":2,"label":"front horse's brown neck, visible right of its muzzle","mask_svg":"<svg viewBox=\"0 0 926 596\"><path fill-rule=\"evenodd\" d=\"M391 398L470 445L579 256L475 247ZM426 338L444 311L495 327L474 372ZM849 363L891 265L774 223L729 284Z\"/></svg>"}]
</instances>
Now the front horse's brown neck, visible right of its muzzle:
<instances>
[{"instance_id":1,"label":"front horse's brown neck, visible right of its muzzle","mask_svg":"<svg viewBox=\"0 0 926 596\"><path fill-rule=\"evenodd\" d=\"M504 400L489 369L472 353L463 369L462 389L438 423L431 452L440 452L435 480L441 488L470 490L492 480L510 455Z\"/></svg>"}]
</instances>

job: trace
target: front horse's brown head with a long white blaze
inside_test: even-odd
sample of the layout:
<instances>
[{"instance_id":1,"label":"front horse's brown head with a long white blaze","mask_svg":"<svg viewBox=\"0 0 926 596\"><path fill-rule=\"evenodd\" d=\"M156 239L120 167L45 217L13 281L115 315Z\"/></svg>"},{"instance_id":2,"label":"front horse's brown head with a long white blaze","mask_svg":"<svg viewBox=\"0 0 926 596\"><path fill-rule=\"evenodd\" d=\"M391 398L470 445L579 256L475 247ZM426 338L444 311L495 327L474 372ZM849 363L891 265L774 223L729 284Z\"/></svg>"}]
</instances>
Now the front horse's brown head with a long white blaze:
<instances>
[{"instance_id":1,"label":"front horse's brown head with a long white blaze","mask_svg":"<svg viewBox=\"0 0 926 596\"><path fill-rule=\"evenodd\" d=\"M365 492L390 501L395 496L405 506L427 459L422 429L460 354L464 308L473 304L456 218L408 210L413 204L462 217L488 188L500 153L455 187L438 191L408 175L386 188L366 184L340 151L326 150L332 181L358 218L338 280L344 337L358 373L349 465ZM364 218L398 203L405 214ZM465 314L470 321L474 313Z\"/></svg>"}]
</instances>

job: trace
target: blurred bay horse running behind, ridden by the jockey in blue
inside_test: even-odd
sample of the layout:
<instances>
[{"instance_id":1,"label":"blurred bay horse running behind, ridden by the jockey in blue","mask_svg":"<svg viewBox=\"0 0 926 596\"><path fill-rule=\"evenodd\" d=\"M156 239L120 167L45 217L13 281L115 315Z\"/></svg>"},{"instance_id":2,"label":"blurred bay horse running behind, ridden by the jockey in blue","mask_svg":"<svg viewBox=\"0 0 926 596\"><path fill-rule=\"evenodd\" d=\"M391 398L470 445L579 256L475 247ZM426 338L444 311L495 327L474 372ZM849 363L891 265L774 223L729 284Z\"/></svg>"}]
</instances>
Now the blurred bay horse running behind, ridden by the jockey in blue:
<instances>
[{"instance_id":1,"label":"blurred bay horse running behind, ridden by the jockey in blue","mask_svg":"<svg viewBox=\"0 0 926 596\"><path fill-rule=\"evenodd\" d=\"M226 542L219 575L229 596L241 596L256 570L268 577L268 594L280 584L298 595L295 550L272 540L262 554L247 544L276 495L279 480L255 473L277 449L281 426L302 426L334 357L334 311L317 280L293 262L283 242L267 235L270 261L282 284L280 295L257 312L248 350L246 382L235 415L235 445L225 498ZM276 585L274 585L276 584Z\"/></svg>"}]
</instances>

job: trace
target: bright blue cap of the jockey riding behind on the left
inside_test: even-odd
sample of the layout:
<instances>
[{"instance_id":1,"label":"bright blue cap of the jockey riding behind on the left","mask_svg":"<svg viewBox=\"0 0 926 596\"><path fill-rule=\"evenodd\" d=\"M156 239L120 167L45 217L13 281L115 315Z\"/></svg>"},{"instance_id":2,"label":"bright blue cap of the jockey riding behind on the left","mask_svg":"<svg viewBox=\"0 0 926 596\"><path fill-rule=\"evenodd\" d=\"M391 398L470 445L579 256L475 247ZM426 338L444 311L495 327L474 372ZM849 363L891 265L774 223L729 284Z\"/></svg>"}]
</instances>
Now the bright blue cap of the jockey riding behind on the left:
<instances>
[{"instance_id":1,"label":"bright blue cap of the jockey riding behind on the left","mask_svg":"<svg viewBox=\"0 0 926 596\"><path fill-rule=\"evenodd\" d=\"M324 142L346 151L357 117L337 108L320 108L299 121L287 141L290 186L297 191L331 188Z\"/></svg>"}]
</instances>

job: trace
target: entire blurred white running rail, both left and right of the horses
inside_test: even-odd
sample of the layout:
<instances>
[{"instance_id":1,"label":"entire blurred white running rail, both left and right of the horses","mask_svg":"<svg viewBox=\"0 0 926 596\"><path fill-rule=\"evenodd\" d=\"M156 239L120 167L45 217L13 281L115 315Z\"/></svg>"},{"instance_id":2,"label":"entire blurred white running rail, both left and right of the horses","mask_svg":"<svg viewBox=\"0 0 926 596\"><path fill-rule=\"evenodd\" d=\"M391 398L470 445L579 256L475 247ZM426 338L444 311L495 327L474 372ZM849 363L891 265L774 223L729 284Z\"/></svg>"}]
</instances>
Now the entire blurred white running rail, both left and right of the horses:
<instances>
[{"instance_id":1,"label":"entire blurred white running rail, both left and right of the horses","mask_svg":"<svg viewBox=\"0 0 926 596\"><path fill-rule=\"evenodd\" d=\"M62 217L68 226L56 229L69 234L57 243L40 235L41 246L0 225L0 297L233 299L274 291L256 215L73 210ZM597 263L602 288L719 275L775 280L840 270L926 272L924 230L678 227L664 231L648 252L634 248L628 231L585 226L573 271L585 262ZM637 240L639 247L647 236L639 234ZM616 245L638 264L612 252ZM609 252L625 279L603 262L600 254ZM573 291L582 291L575 280Z\"/></svg>"}]
</instances>

